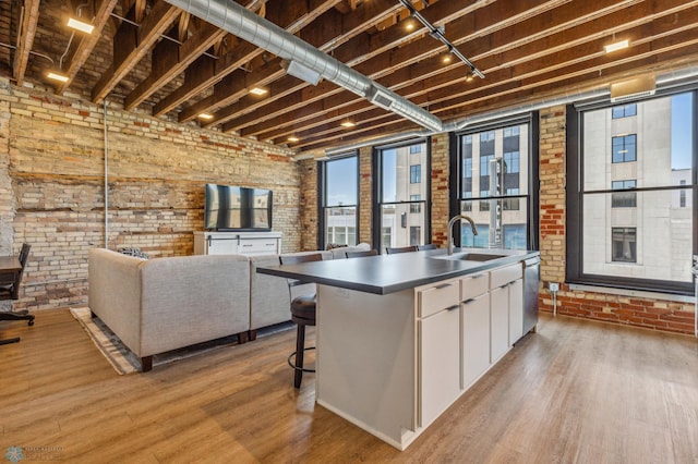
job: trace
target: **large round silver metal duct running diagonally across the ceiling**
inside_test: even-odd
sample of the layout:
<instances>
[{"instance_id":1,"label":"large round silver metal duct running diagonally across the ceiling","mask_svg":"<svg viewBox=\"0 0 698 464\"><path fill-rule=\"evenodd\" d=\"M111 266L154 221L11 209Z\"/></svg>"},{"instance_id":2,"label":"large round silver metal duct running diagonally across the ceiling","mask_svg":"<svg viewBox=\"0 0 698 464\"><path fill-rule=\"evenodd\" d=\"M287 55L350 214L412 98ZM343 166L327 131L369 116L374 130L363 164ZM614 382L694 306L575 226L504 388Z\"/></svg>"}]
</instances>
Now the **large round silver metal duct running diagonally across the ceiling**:
<instances>
[{"instance_id":1,"label":"large round silver metal duct running diagonally across the ceiling","mask_svg":"<svg viewBox=\"0 0 698 464\"><path fill-rule=\"evenodd\" d=\"M423 127L435 132L441 132L443 129L442 121L422 107L381 86L233 1L166 1L284 60L315 71L321 77Z\"/></svg>"}]
</instances>

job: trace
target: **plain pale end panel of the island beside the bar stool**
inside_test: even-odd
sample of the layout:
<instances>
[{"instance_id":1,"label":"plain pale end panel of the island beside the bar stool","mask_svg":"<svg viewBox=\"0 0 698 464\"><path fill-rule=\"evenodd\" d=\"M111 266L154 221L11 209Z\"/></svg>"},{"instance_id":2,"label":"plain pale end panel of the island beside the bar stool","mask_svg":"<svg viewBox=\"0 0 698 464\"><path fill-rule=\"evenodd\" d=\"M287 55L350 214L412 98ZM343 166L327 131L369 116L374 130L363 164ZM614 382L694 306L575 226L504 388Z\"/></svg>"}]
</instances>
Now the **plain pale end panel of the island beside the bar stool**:
<instances>
[{"instance_id":1,"label":"plain pale end panel of the island beside the bar stool","mask_svg":"<svg viewBox=\"0 0 698 464\"><path fill-rule=\"evenodd\" d=\"M317 403L405 449L417 420L414 291L317 285L316 333Z\"/></svg>"}]
</instances>

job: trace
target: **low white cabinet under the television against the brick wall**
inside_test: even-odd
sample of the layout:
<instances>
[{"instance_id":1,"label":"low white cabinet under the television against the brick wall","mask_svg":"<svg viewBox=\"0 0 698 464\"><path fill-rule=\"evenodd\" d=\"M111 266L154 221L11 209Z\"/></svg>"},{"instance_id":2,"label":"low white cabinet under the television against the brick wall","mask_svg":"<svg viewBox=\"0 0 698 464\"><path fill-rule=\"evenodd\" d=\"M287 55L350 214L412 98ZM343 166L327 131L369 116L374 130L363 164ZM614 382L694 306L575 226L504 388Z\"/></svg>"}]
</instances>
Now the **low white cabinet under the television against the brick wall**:
<instances>
[{"instance_id":1,"label":"low white cabinet under the television against the brick wall","mask_svg":"<svg viewBox=\"0 0 698 464\"><path fill-rule=\"evenodd\" d=\"M280 232L194 232L194 255L278 255Z\"/></svg>"}]
</instances>

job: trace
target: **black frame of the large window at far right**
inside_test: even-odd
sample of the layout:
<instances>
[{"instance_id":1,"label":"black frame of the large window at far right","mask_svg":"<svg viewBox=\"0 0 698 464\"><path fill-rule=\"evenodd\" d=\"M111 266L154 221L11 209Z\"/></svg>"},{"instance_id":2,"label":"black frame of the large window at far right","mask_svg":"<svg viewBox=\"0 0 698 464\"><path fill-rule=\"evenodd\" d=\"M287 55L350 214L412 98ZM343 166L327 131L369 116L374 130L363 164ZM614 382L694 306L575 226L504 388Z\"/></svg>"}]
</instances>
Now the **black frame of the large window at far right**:
<instances>
[{"instance_id":1,"label":"black frame of the large window at far right","mask_svg":"<svg viewBox=\"0 0 698 464\"><path fill-rule=\"evenodd\" d=\"M693 185L673 185L673 186L652 186L652 187L636 187L629 190L631 192L658 192L658 191L674 191L681 192L688 190L693 195L693 236L691 248L693 255L698 254L698 85L690 84L686 86L677 86L672 89L658 90L653 96L640 98L634 100L635 103L640 101L651 100L655 98L671 97L678 94L691 93L693 94L693 154L691 154L691 182ZM616 289L625 289L633 291L649 291L659 292L665 294L677 295L694 295L695 286L694 282L678 282L671 280L658 280L658 279L643 279L643 278L629 278L614 274L599 274L599 273L585 273L583 272L583 146L582 146L582 113L585 111L609 109L613 112L613 105L609 100L597 100L587 103L568 105L566 109L566 145L567 145L567 171L566 171L566 268L565 280L573 284L588 284L611 286ZM613 157L613 152L611 154ZM637 146L636 146L636 160L637 160ZM613 159L611 159L611 163ZM623 191L609 188L606 191L589 191L589 194L613 194ZM609 233L612 233L609 230ZM636 235L637 239L637 235ZM623 264L622 261L614 261Z\"/></svg>"}]
</instances>

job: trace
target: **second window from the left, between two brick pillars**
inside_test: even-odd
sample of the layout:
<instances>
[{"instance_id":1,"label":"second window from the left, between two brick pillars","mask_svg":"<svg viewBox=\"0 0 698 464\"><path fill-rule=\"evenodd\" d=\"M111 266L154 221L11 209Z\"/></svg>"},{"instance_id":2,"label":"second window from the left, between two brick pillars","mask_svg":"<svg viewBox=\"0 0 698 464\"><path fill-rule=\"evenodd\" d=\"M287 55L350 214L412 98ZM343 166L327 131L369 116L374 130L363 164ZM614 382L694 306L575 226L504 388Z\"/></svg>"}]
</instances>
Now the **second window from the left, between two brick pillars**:
<instances>
[{"instance_id":1,"label":"second window from the left, between two brick pillars","mask_svg":"<svg viewBox=\"0 0 698 464\"><path fill-rule=\"evenodd\" d=\"M376 248L424 244L430 234L425 198L431 195L426 142L376 148L374 172Z\"/></svg>"}]
</instances>

